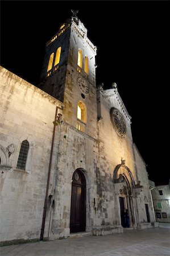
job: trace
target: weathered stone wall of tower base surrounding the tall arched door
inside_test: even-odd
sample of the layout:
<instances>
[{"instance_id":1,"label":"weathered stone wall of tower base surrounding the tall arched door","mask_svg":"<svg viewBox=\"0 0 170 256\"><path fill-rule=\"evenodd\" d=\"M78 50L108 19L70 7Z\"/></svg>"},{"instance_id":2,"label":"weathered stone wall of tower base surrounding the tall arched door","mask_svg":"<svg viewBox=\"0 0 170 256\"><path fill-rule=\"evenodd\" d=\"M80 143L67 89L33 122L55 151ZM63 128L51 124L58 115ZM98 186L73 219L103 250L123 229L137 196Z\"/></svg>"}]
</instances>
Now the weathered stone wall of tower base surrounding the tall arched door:
<instances>
[{"instance_id":1,"label":"weathered stone wall of tower base surrounding the tall arched door","mask_svg":"<svg viewBox=\"0 0 170 256\"><path fill-rule=\"evenodd\" d=\"M92 230L96 151L96 140L67 123L61 124L51 238L69 236L72 176L78 168L81 168L86 179L86 230Z\"/></svg>"}]
</instances>

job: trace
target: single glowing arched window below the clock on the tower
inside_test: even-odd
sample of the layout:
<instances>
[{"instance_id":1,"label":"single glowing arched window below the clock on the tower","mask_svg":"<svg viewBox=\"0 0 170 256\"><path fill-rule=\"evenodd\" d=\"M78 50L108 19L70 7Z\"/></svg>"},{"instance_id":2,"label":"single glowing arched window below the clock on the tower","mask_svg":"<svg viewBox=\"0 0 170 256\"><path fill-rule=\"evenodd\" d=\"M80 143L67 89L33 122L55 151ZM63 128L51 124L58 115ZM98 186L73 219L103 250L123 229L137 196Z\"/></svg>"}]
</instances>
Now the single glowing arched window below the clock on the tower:
<instances>
[{"instance_id":1,"label":"single glowing arched window below the clock on the tower","mask_svg":"<svg viewBox=\"0 0 170 256\"><path fill-rule=\"evenodd\" d=\"M87 121L86 105L82 101L77 104L77 129L85 131Z\"/></svg>"}]
</instances>

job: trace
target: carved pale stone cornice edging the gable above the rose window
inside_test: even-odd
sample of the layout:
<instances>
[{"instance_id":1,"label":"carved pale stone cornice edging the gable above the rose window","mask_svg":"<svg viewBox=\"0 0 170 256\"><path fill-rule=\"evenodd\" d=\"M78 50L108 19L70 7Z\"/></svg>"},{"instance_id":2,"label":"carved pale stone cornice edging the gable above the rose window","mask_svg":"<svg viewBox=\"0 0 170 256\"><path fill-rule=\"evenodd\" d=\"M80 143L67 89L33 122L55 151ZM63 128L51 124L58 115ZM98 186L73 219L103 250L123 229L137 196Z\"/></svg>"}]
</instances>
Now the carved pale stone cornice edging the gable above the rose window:
<instances>
[{"instance_id":1,"label":"carved pale stone cornice edging the gable above the rose window","mask_svg":"<svg viewBox=\"0 0 170 256\"><path fill-rule=\"evenodd\" d=\"M102 87L99 89L100 93L102 94L102 96L104 98L111 98L111 97L116 97L117 101L122 109L123 114L125 114L125 117L127 118L127 121L131 123L131 116L128 114L127 109L125 107L125 105L123 104L122 98L118 93L118 89L114 88L114 89L107 89L104 90Z\"/></svg>"}]
</instances>

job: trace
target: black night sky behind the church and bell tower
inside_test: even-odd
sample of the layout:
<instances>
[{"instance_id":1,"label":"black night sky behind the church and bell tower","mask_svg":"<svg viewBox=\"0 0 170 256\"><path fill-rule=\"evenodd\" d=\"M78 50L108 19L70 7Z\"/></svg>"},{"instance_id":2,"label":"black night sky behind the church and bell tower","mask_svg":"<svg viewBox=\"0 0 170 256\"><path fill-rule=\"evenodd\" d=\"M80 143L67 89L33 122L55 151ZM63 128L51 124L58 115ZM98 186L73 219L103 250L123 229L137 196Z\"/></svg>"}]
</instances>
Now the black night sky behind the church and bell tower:
<instances>
[{"instance_id":1,"label":"black night sky behind the church and bell tower","mask_svg":"<svg viewBox=\"0 0 170 256\"><path fill-rule=\"evenodd\" d=\"M97 46L97 84L118 91L156 185L168 184L168 1L1 1L1 65L38 85L45 43L78 10Z\"/></svg>"}]
</instances>

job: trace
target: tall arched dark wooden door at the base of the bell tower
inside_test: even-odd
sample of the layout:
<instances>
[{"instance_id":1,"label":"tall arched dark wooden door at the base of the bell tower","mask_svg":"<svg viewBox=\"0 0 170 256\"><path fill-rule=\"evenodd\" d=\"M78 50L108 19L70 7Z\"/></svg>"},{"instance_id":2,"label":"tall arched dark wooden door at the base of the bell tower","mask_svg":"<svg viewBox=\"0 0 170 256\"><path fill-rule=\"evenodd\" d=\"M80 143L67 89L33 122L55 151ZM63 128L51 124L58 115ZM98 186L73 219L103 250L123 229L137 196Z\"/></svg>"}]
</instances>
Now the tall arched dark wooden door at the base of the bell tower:
<instances>
[{"instance_id":1,"label":"tall arched dark wooden door at the base of the bell tower","mask_svg":"<svg viewBox=\"0 0 170 256\"><path fill-rule=\"evenodd\" d=\"M71 198L71 233L85 231L86 228L86 181L80 170L73 174Z\"/></svg>"}]
</instances>

